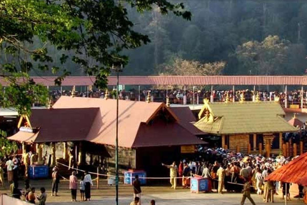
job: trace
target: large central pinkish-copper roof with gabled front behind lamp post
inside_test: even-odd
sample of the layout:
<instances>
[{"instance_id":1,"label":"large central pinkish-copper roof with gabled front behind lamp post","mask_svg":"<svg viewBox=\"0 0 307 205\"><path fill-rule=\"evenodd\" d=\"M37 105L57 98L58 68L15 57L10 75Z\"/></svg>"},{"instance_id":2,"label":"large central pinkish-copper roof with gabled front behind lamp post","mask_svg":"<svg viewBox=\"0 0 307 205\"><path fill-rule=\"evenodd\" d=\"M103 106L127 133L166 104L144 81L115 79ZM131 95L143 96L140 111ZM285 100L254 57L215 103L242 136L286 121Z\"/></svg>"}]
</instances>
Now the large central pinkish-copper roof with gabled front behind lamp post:
<instances>
[{"instance_id":1,"label":"large central pinkish-copper roof with gabled front behind lamp post","mask_svg":"<svg viewBox=\"0 0 307 205\"><path fill-rule=\"evenodd\" d=\"M62 96L53 106L54 108L100 108L100 112L96 116L89 135L86 137L87 141L95 142L97 144L104 145L115 145L116 137L116 100L115 99L100 99L100 98L84 98L84 97L67 97ZM155 131L155 127L148 126L148 123L153 119L156 114L164 110L168 112L171 117L174 118L175 122L172 124L176 125L165 125L164 128L169 128L172 130L173 134L169 130L160 129L161 125L158 126ZM179 119L177 116L165 106L164 103L146 103L144 101L130 101L130 100L120 100L119 101L119 131L118 131L118 145L120 147L143 147L144 144L149 146L149 144L154 146L169 145L169 140L174 140L173 144L182 145L195 145L204 144L205 142L199 140L195 135L189 133L188 135L181 134L178 136L173 136L178 134L176 129L184 129L178 125L177 121ZM141 125L146 125L147 129L153 129L148 136L141 136L138 134L139 129L143 132ZM173 126L177 126L176 129ZM178 127L179 126L179 127ZM185 129L184 129L185 130ZM168 134L165 134L168 133ZM161 140L157 140L159 136L165 136ZM144 137L144 139L138 139L138 137ZM175 137L175 138L174 138ZM177 142L175 141L177 140ZM164 140L164 141L163 141ZM140 143L139 143L140 142Z\"/></svg>"}]
</instances>

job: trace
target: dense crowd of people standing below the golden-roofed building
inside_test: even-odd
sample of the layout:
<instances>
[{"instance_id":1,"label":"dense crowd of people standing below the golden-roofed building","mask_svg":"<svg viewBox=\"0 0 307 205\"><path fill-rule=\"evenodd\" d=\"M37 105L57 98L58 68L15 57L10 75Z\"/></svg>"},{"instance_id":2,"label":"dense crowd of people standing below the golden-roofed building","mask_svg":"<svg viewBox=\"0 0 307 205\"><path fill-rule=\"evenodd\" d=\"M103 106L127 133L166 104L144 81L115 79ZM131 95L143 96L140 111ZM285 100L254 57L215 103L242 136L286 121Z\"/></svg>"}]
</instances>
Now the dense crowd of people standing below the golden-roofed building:
<instances>
[{"instance_id":1,"label":"dense crowd of people standing below the golden-roofed building","mask_svg":"<svg viewBox=\"0 0 307 205\"><path fill-rule=\"evenodd\" d=\"M274 195L278 194L279 189L282 189L282 198L288 197L290 200L290 183L266 180L270 173L286 165L290 157L243 155L222 148L206 149L205 152L210 155L208 161L182 160L178 166L176 162L172 165L162 164L170 169L172 188L177 188L177 181L182 183L183 189L189 188L192 177L202 177L208 179L207 192L212 192L212 189L218 194L224 194L224 190L237 193L243 191L242 204L246 198L251 200L249 186L258 195L263 195L265 202L274 202ZM216 160L213 162L212 159ZM299 185L299 194L295 197L303 197L303 186ZM251 203L254 204L252 200Z\"/></svg>"}]
</instances>

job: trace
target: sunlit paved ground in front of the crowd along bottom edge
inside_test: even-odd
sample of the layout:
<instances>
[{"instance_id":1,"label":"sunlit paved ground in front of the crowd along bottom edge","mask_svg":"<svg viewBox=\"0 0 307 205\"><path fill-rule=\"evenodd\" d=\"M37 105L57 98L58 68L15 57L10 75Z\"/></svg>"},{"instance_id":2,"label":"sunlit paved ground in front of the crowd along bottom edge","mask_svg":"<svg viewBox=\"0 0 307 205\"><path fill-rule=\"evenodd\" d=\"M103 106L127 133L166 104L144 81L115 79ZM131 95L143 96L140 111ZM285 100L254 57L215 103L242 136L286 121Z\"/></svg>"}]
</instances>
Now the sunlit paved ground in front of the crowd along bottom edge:
<instances>
[{"instance_id":1,"label":"sunlit paved ground in front of the crowd along bottom edge","mask_svg":"<svg viewBox=\"0 0 307 205\"><path fill-rule=\"evenodd\" d=\"M89 204L89 205L113 205L115 204L115 187L108 186L106 184L106 180L100 180L100 189L96 188L94 183L94 187L92 189L92 199L91 201L85 202L71 202L71 195L69 190L68 181L61 180L59 185L59 193L57 197L51 196L51 180L43 179L43 180L31 180L31 186L37 188L37 192L39 192L40 187L45 187L47 189L47 204L49 205L68 205L68 204ZM296 185L294 185L296 186ZM23 181L19 182L19 187L23 188ZM167 185L165 186L148 186L142 187L143 195L142 195L142 204L149 204L151 199L155 199L157 204L166 204L166 205L196 205L196 204L212 204L212 205L220 205L220 204L240 204L242 194L240 193L225 193L224 195L218 195L216 193L200 193L194 194L190 193L190 190L184 190L179 187L177 190L173 190ZM0 193L8 193L8 189L1 189ZM130 204L133 200L133 189L129 185L120 184L119 187L119 204ZM37 193L39 194L39 193ZM295 193L292 193L294 196ZM275 203L274 204L284 204L284 201L280 199L280 194L275 195ZM80 200L80 194L78 192L77 199ZM262 200L262 196L258 196L256 194L252 194L252 198L254 199L256 204L267 204ZM245 204L251 204L248 199ZM292 199L288 204L297 205L304 204L302 201L298 201L298 199Z\"/></svg>"}]
</instances>

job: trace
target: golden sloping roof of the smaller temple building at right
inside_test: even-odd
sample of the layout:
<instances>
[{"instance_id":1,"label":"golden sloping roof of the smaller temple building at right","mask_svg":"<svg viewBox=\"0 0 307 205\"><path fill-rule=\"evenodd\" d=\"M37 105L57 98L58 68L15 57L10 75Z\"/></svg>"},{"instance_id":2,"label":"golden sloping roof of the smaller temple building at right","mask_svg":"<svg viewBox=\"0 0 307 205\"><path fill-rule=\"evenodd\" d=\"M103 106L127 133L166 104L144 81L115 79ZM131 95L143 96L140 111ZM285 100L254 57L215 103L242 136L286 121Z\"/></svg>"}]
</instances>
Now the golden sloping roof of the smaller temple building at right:
<instances>
[{"instance_id":1,"label":"golden sloping roof of the smaller temple building at right","mask_svg":"<svg viewBox=\"0 0 307 205\"><path fill-rule=\"evenodd\" d=\"M206 109L211 113L212 120L207 120ZM284 114L281 106L274 101L227 104L205 102L199 114L201 120L194 125L212 134L297 132L295 127L283 119Z\"/></svg>"}]
</instances>

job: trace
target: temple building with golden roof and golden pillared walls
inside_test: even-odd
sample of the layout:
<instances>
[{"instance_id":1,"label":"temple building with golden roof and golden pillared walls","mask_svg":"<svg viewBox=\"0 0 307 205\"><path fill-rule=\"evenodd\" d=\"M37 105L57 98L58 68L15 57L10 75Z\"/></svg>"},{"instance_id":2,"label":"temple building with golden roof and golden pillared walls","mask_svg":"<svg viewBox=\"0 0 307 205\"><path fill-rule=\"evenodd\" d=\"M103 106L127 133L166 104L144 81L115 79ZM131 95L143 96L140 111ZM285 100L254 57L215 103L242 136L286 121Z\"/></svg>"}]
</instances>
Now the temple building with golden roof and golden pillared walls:
<instances>
[{"instance_id":1,"label":"temple building with golden roof and golden pillared walls","mask_svg":"<svg viewBox=\"0 0 307 205\"><path fill-rule=\"evenodd\" d=\"M208 142L215 138L225 149L243 153L279 154L283 147L283 133L298 132L283 117L285 113L277 101L239 101L209 103L199 113L194 126L207 133Z\"/></svg>"}]
</instances>

